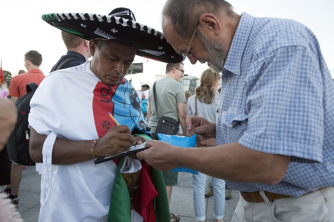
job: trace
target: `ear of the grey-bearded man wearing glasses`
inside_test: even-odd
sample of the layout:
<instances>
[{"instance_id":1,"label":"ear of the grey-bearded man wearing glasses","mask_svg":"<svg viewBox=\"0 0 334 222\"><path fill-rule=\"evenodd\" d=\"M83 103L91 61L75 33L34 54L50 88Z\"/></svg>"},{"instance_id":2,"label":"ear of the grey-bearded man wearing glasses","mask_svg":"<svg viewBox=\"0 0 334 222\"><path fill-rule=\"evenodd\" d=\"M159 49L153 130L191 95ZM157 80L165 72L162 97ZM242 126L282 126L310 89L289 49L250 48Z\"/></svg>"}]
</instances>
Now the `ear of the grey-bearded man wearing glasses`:
<instances>
[{"instance_id":1,"label":"ear of the grey-bearded man wearing glasses","mask_svg":"<svg viewBox=\"0 0 334 222\"><path fill-rule=\"evenodd\" d=\"M204 13L198 18L198 29L200 29L204 35L217 36L221 34L221 23L215 15Z\"/></svg>"}]
</instances>

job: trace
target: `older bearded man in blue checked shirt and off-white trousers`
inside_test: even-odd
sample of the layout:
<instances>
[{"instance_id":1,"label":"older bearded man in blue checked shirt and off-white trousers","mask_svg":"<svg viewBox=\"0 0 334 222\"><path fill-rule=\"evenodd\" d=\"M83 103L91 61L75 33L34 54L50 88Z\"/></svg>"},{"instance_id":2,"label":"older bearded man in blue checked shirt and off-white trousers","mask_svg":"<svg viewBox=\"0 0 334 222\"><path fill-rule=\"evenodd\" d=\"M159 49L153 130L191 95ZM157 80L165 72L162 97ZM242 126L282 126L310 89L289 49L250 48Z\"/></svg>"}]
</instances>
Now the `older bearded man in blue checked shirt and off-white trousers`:
<instances>
[{"instance_id":1,"label":"older bearded man in blue checked shirt and off-white trousers","mask_svg":"<svg viewBox=\"0 0 334 222\"><path fill-rule=\"evenodd\" d=\"M188 135L217 146L149 141L137 157L226 180L241 194L233 222L334 220L334 84L312 31L225 0L167 0L163 31L192 64L222 73L216 123L186 120Z\"/></svg>"}]
</instances>

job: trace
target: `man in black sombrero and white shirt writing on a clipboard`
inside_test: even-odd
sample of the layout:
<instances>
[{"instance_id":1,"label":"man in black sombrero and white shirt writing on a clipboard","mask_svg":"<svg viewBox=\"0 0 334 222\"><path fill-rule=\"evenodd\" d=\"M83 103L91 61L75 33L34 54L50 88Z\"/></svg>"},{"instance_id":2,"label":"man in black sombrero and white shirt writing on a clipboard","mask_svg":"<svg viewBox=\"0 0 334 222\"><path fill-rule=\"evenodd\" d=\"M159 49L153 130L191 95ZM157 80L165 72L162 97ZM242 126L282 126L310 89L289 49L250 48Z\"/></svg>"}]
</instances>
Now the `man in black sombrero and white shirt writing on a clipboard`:
<instances>
[{"instance_id":1,"label":"man in black sombrero and white shirt writing on a clipboard","mask_svg":"<svg viewBox=\"0 0 334 222\"><path fill-rule=\"evenodd\" d=\"M166 63L182 56L127 8L42 19L89 40L92 60L50 73L30 103L30 155L42 163L39 221L169 222L160 171L129 157L96 165L94 160L151 136L137 93L124 78L135 55Z\"/></svg>"}]
</instances>

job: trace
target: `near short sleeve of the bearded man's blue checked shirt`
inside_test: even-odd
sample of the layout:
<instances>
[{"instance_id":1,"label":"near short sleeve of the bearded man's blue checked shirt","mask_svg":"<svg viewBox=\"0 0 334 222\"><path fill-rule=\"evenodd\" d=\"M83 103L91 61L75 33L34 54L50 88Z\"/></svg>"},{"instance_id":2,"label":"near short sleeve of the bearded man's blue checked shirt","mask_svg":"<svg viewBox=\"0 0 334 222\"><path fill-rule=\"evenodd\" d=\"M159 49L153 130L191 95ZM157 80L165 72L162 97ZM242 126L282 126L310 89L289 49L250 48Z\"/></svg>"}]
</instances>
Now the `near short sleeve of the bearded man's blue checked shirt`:
<instances>
[{"instance_id":1,"label":"near short sleeve of the bearded man's blue checked shirt","mask_svg":"<svg viewBox=\"0 0 334 222\"><path fill-rule=\"evenodd\" d=\"M248 148L322 161L324 110L322 74L315 52L305 46L281 47L246 79L248 125L239 143Z\"/></svg>"}]
</instances>

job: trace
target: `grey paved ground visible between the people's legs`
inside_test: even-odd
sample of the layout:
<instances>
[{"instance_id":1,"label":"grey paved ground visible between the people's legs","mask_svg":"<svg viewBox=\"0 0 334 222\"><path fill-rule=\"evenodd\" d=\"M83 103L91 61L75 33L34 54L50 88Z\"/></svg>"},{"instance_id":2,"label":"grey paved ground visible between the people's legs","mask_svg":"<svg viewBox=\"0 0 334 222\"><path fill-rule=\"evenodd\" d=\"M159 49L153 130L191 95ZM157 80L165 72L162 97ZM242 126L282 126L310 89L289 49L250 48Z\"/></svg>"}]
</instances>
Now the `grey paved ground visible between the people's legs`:
<instances>
[{"instance_id":1,"label":"grey paved ground visible between the people's legs","mask_svg":"<svg viewBox=\"0 0 334 222\"><path fill-rule=\"evenodd\" d=\"M19 188L19 204L17 210L20 212L24 222L37 222L39 214L39 194L41 176L34 166L27 166L22 170L22 180ZM207 177L206 186L208 186ZM4 190L0 186L0 191ZM232 191L232 198L225 202L224 222L231 222L234 209L239 201L239 192ZM206 198L206 222L214 222L213 196ZM192 200L192 174L179 173L178 184L173 187L170 212L180 216L180 222L195 222L195 213ZM66 221L66 220L65 220Z\"/></svg>"}]
</instances>

